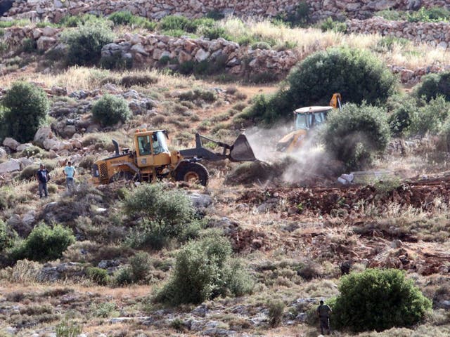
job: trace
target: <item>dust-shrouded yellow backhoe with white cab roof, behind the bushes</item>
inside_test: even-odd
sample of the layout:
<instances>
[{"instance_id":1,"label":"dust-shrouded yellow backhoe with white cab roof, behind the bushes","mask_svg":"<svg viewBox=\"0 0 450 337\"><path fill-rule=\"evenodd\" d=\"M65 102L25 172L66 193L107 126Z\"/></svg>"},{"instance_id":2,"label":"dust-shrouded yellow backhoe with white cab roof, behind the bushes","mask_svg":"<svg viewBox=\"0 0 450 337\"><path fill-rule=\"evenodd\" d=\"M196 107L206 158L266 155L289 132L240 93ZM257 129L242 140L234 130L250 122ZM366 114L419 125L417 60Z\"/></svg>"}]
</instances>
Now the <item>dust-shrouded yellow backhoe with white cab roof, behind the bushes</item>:
<instances>
[{"instance_id":1,"label":"dust-shrouded yellow backhoe with white cab roof, behind the bushes","mask_svg":"<svg viewBox=\"0 0 450 337\"><path fill-rule=\"evenodd\" d=\"M328 112L338 107L341 108L341 95L334 93L328 106L300 107L295 110L294 131L278 140L276 150L287 153L299 150L306 143L311 129L323 124Z\"/></svg>"}]
</instances>

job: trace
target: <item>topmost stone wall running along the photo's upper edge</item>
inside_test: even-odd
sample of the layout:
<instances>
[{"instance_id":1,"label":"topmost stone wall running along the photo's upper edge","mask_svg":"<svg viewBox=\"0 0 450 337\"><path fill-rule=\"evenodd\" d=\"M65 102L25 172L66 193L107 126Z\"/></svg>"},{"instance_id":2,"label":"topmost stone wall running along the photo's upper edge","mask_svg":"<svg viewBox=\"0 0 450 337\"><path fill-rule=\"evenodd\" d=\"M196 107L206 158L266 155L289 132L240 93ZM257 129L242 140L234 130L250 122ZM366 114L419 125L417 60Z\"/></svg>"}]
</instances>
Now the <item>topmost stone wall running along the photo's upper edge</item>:
<instances>
[{"instance_id":1,"label":"topmost stone wall running along the photo's upper edge","mask_svg":"<svg viewBox=\"0 0 450 337\"><path fill-rule=\"evenodd\" d=\"M1 1L1 0L0 0ZM450 8L444 0L306 0L311 8L311 17L320 20L332 17L368 18L374 11L393 8L417 9L420 6ZM226 15L273 17L291 11L298 0L15 0L13 8L5 15L30 20L58 22L65 15L79 13L102 13L128 10L134 14L158 20L165 15L180 14L197 18L210 11L221 11Z\"/></svg>"}]
</instances>

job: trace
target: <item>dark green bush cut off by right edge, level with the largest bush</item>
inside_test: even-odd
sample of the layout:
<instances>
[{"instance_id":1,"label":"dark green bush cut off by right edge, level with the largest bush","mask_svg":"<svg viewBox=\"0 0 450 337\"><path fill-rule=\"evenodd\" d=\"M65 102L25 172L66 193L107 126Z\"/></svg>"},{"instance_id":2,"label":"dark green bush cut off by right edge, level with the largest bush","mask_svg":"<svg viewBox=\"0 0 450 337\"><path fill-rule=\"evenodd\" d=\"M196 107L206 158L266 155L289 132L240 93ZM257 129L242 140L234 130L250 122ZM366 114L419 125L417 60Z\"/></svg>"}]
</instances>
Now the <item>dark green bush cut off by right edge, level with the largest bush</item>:
<instances>
[{"instance_id":1,"label":"dark green bush cut off by right edge, level with the largest bush","mask_svg":"<svg viewBox=\"0 0 450 337\"><path fill-rule=\"evenodd\" d=\"M450 72L426 75L422 78L422 84L416 91L416 96L425 98L427 102L430 102L432 98L437 98L438 95L442 95L450 101Z\"/></svg>"}]
</instances>

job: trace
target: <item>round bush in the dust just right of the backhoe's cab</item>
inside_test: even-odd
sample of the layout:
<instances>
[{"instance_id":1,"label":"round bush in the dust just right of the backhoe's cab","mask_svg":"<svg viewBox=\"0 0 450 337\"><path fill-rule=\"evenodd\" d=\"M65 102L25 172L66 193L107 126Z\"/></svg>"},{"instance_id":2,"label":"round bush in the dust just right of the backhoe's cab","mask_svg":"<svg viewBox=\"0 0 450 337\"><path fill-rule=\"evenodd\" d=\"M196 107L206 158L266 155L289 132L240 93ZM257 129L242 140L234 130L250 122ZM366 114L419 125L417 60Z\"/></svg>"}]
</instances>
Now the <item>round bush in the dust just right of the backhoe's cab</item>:
<instances>
[{"instance_id":1,"label":"round bush in the dust just right of the backhoe's cab","mask_svg":"<svg viewBox=\"0 0 450 337\"><path fill-rule=\"evenodd\" d=\"M371 164L373 154L385 150L389 139L385 110L370 105L345 104L342 111L331 112L323 133L328 152L349 170Z\"/></svg>"}]
</instances>

